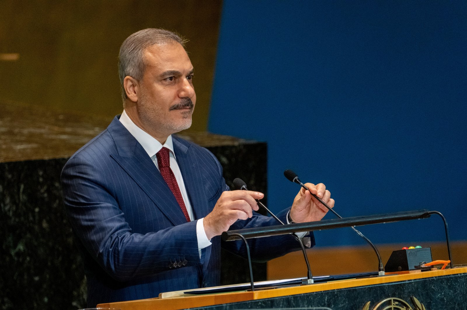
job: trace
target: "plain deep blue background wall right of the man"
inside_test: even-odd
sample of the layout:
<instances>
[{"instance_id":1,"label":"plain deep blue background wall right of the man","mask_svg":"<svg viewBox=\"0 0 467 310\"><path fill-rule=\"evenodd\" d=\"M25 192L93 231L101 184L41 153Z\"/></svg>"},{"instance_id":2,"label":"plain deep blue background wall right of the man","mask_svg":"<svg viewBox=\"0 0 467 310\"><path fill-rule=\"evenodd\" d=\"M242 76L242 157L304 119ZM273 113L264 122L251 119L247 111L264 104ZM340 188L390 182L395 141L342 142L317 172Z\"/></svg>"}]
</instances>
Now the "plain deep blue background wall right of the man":
<instances>
[{"instance_id":1,"label":"plain deep blue background wall right of the man","mask_svg":"<svg viewBox=\"0 0 467 310\"><path fill-rule=\"evenodd\" d=\"M466 3L226 0L209 131L268 142L274 211L296 195L293 169L325 183L344 217L427 208L467 240ZM361 227L401 245L442 229L435 217ZM364 243L349 229L317 236Z\"/></svg>"}]
</instances>

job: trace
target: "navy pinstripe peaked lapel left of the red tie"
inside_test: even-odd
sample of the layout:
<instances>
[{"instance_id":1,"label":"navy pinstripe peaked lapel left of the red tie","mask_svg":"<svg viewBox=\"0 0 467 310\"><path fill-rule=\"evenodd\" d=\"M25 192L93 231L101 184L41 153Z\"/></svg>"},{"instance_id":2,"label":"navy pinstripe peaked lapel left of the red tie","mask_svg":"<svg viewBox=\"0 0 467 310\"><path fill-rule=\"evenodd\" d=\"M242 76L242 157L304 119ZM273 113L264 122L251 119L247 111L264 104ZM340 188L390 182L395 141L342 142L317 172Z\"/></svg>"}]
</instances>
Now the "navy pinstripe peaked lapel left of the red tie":
<instances>
[{"instance_id":1,"label":"navy pinstripe peaked lapel left of the red tie","mask_svg":"<svg viewBox=\"0 0 467 310\"><path fill-rule=\"evenodd\" d=\"M117 147L117 152L110 156L131 176L173 225L186 223L182 209L156 165L141 144L120 123L118 116L113 119L107 130Z\"/></svg>"}]
</instances>

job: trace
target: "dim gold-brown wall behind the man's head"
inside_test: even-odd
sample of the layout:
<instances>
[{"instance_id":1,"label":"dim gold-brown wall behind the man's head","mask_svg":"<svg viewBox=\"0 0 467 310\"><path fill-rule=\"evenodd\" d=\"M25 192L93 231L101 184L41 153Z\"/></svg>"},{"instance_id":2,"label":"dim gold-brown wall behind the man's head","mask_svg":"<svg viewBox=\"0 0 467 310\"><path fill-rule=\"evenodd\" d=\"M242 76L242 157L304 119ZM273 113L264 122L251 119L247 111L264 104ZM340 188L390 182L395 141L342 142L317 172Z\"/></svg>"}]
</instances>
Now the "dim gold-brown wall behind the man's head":
<instances>
[{"instance_id":1,"label":"dim gold-brown wall behind the man's head","mask_svg":"<svg viewBox=\"0 0 467 310\"><path fill-rule=\"evenodd\" d=\"M190 40L197 92L191 131L206 129L221 1L4 0L0 6L1 101L119 114L120 44L143 28L165 28Z\"/></svg>"}]
</instances>

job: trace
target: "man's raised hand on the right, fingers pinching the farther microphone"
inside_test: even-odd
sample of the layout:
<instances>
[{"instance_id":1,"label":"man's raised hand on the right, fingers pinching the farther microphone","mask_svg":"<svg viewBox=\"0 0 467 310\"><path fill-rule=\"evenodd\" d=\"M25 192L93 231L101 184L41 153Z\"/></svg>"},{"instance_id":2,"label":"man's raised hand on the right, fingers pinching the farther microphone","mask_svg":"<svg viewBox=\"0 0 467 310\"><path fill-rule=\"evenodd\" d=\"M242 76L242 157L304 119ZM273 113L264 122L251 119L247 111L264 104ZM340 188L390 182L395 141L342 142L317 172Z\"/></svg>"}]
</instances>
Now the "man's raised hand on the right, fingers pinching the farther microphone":
<instances>
[{"instance_id":1,"label":"man's raised hand on the right, fingers pinching the farther microphone","mask_svg":"<svg viewBox=\"0 0 467 310\"><path fill-rule=\"evenodd\" d=\"M317 185L305 183L305 186L331 208L334 206L334 199L331 198L331 193L326 190L323 183ZM310 191L302 187L293 201L290 218L295 223L319 221L328 211L315 197L311 196Z\"/></svg>"}]
</instances>

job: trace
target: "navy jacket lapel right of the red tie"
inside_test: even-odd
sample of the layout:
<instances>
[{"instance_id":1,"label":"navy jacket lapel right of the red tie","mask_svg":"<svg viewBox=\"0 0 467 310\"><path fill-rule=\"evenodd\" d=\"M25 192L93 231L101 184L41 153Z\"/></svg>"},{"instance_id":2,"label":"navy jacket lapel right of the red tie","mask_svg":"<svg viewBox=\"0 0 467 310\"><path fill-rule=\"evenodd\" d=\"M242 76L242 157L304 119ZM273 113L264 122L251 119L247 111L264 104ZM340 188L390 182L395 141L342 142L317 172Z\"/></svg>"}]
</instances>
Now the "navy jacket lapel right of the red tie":
<instances>
[{"instance_id":1,"label":"navy jacket lapel right of the red tie","mask_svg":"<svg viewBox=\"0 0 467 310\"><path fill-rule=\"evenodd\" d=\"M195 219L204 218L211 210L207 204L199 156L189 143L177 136L172 135L172 141Z\"/></svg>"}]
</instances>

